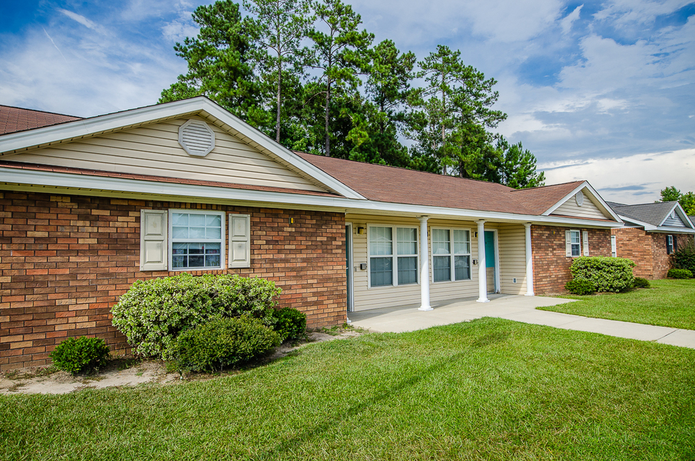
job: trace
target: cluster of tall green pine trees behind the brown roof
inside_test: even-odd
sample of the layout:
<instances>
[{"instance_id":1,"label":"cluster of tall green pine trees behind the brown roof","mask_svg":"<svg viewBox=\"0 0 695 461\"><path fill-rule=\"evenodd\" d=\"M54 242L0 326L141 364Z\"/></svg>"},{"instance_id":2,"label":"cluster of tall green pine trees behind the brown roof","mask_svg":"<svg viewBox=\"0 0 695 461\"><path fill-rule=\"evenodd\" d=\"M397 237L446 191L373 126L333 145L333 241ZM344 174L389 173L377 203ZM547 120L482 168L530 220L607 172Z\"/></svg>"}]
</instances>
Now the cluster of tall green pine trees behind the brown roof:
<instances>
[{"instance_id":1,"label":"cluster of tall green pine trees behind the brown roof","mask_svg":"<svg viewBox=\"0 0 695 461\"><path fill-rule=\"evenodd\" d=\"M493 108L496 80L461 51L437 45L418 62L389 39L372 47L342 0L243 1L248 16L231 0L196 8L198 35L174 46L188 72L159 102L206 95L289 149L543 184L533 154L495 133L507 117Z\"/></svg>"}]
</instances>

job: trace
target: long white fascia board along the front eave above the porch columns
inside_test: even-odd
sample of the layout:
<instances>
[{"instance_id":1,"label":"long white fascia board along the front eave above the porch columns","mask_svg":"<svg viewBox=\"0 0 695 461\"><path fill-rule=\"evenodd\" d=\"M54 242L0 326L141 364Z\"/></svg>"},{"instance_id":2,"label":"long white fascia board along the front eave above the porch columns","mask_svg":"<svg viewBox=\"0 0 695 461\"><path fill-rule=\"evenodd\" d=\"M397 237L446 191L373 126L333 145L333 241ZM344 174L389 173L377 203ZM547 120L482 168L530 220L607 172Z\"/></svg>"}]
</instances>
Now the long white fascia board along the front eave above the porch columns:
<instances>
[{"instance_id":1,"label":"long white fascia board along the front eave above the porch columns","mask_svg":"<svg viewBox=\"0 0 695 461\"><path fill-rule=\"evenodd\" d=\"M22 170L0 167L0 183L27 184L30 186L71 188L78 195L90 195L90 191L113 191L115 193L138 193L156 196L190 197L197 200L224 200L266 203L288 206L320 207L343 213L396 213L401 216L441 216L468 220L490 220L518 223L583 227L621 227L623 223L600 222L580 218L559 216L535 216L495 211L478 211L446 207L430 207L372 200L355 200L347 197L325 197L301 193L254 191L216 186L199 186L162 181L145 181L120 177L76 175L72 173ZM11 187L11 186L10 186ZM66 191L66 193L68 193Z\"/></svg>"}]
</instances>

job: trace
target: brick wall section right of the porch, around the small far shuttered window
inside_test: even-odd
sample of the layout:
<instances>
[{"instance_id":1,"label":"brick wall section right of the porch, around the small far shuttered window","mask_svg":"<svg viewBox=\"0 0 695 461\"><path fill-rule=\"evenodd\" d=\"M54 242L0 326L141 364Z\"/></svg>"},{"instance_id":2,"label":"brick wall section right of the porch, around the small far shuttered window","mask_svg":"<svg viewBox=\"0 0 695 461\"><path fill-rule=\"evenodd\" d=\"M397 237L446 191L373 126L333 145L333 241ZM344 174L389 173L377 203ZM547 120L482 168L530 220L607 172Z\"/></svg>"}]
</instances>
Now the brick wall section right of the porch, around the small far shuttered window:
<instances>
[{"instance_id":1,"label":"brick wall section right of the porch, around the small far shuttered window","mask_svg":"<svg viewBox=\"0 0 695 461\"><path fill-rule=\"evenodd\" d=\"M569 270L573 258L565 256L565 231L569 227L531 226L533 253L533 289L535 293L566 293L564 285L571 280ZM610 256L610 229L573 230L589 232L589 256ZM582 254L584 251L582 240Z\"/></svg>"}]
</instances>

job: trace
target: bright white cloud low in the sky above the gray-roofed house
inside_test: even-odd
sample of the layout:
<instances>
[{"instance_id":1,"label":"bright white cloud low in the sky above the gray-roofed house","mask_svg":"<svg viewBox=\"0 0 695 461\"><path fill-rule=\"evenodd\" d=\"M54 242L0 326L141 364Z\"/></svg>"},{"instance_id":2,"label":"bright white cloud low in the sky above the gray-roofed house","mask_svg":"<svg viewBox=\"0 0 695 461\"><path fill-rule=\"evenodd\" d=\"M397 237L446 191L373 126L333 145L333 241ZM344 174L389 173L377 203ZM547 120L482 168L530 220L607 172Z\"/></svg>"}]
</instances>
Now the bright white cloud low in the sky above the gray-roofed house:
<instances>
[{"instance_id":1,"label":"bright white cloud low in the sky above the gray-roofed house","mask_svg":"<svg viewBox=\"0 0 695 461\"><path fill-rule=\"evenodd\" d=\"M605 200L638 204L660 199L660 191L676 186L695 190L695 149L588 159L539 165L546 184L587 179Z\"/></svg>"}]
</instances>

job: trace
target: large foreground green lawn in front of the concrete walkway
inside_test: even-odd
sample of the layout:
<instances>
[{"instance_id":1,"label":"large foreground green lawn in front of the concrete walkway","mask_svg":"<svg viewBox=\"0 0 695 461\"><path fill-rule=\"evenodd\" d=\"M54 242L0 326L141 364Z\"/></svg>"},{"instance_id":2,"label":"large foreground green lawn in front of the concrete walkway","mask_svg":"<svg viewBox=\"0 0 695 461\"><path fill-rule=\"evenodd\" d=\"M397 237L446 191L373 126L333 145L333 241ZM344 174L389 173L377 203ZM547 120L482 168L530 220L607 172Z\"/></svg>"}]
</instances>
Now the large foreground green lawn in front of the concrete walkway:
<instances>
[{"instance_id":1,"label":"large foreground green lawn in front of the concrete walkway","mask_svg":"<svg viewBox=\"0 0 695 461\"><path fill-rule=\"evenodd\" d=\"M0 396L1 460L692 460L695 350L482 318L203 382Z\"/></svg>"}]
</instances>

